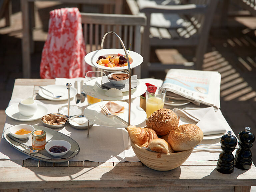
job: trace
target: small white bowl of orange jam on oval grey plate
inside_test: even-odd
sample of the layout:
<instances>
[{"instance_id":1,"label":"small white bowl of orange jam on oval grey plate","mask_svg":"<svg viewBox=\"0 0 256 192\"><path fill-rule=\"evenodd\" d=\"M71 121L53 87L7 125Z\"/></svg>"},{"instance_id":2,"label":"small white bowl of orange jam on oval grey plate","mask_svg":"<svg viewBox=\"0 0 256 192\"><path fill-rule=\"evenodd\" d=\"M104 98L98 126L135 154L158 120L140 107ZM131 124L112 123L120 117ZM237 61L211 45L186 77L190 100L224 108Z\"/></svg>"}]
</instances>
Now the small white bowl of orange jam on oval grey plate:
<instances>
[{"instance_id":1,"label":"small white bowl of orange jam on oval grey plate","mask_svg":"<svg viewBox=\"0 0 256 192\"><path fill-rule=\"evenodd\" d=\"M34 130L32 125L27 124L14 125L9 129L11 135L20 140L28 138Z\"/></svg>"}]
</instances>

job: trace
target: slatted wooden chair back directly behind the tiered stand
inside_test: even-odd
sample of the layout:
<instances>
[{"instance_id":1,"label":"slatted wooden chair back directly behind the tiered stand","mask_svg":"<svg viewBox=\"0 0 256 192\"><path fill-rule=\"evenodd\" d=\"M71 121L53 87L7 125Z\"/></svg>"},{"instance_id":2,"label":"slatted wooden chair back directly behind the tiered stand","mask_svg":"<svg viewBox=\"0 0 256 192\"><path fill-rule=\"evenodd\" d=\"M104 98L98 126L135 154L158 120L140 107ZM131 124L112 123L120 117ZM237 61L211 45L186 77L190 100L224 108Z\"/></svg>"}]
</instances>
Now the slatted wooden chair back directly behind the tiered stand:
<instances>
[{"instance_id":1,"label":"slatted wooden chair back directly behind the tiered stand","mask_svg":"<svg viewBox=\"0 0 256 192\"><path fill-rule=\"evenodd\" d=\"M130 50L141 54L141 26L146 24L145 16L94 13L81 13L81 16L87 53L100 49L104 34L114 31L122 39L127 51L131 44ZM122 46L116 36L109 34L103 48L122 49ZM141 65L134 68L133 74L140 78Z\"/></svg>"}]
</instances>

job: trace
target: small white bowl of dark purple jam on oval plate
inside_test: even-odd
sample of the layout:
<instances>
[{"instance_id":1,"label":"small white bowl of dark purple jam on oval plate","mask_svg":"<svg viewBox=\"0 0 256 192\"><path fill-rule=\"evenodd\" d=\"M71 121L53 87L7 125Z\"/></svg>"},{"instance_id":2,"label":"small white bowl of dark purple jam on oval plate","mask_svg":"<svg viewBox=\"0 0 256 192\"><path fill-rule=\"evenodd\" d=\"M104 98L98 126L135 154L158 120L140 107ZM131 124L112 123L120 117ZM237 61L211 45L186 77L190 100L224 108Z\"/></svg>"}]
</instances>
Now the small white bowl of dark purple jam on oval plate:
<instances>
[{"instance_id":1,"label":"small white bowl of dark purple jam on oval plate","mask_svg":"<svg viewBox=\"0 0 256 192\"><path fill-rule=\"evenodd\" d=\"M52 140L45 145L45 150L54 157L61 157L70 149L71 144L65 140Z\"/></svg>"}]
</instances>

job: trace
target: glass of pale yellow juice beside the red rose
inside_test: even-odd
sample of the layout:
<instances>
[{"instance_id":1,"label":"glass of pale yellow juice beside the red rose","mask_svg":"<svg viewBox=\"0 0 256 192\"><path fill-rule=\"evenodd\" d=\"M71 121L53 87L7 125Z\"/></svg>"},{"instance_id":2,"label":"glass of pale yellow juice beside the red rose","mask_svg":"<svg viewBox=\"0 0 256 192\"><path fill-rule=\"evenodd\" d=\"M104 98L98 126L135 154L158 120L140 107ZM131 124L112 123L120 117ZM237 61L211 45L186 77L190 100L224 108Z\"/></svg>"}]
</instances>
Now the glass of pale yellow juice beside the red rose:
<instances>
[{"instance_id":1,"label":"glass of pale yellow juice beside the red rose","mask_svg":"<svg viewBox=\"0 0 256 192\"><path fill-rule=\"evenodd\" d=\"M147 118L164 107L166 90L159 86L149 86L146 91L146 113Z\"/></svg>"}]
</instances>

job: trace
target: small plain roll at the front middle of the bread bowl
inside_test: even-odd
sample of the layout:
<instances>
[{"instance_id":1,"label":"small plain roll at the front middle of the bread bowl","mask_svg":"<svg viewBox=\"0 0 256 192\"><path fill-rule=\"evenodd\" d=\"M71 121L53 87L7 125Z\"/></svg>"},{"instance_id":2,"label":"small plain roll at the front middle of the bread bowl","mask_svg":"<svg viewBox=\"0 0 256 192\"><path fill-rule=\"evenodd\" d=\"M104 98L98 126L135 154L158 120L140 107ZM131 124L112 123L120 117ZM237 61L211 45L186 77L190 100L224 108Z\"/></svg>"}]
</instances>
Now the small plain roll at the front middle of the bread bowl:
<instances>
[{"instance_id":1,"label":"small plain roll at the front middle of the bread bowl","mask_svg":"<svg viewBox=\"0 0 256 192\"><path fill-rule=\"evenodd\" d=\"M164 139L153 139L149 145L148 148L152 151L158 152L158 153L169 153L169 147L170 145L164 140Z\"/></svg>"}]
</instances>

